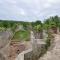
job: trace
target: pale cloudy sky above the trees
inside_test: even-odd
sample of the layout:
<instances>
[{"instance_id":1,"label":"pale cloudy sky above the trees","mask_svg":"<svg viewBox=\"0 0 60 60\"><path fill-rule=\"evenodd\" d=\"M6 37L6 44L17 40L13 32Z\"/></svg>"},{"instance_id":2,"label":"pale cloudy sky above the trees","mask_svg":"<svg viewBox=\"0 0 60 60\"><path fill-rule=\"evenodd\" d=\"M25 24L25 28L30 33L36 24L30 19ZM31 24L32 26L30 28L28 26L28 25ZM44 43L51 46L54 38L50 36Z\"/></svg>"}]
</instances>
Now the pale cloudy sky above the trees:
<instances>
[{"instance_id":1,"label":"pale cloudy sky above the trees","mask_svg":"<svg viewBox=\"0 0 60 60\"><path fill-rule=\"evenodd\" d=\"M60 16L60 0L0 0L0 19L36 21Z\"/></svg>"}]
</instances>

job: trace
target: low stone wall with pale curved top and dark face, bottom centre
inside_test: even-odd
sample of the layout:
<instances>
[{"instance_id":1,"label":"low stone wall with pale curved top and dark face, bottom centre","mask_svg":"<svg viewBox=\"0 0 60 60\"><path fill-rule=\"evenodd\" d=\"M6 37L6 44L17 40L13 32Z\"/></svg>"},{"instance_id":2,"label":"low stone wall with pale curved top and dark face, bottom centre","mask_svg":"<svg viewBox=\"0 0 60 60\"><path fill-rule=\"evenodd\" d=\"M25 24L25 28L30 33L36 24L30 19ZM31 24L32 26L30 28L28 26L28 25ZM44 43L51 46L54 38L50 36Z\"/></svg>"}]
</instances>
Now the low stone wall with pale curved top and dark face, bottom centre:
<instances>
[{"instance_id":1,"label":"low stone wall with pale curved top and dark face, bottom centre","mask_svg":"<svg viewBox=\"0 0 60 60\"><path fill-rule=\"evenodd\" d=\"M36 51L29 49L20 53L15 60L37 60L45 52L45 44L38 45Z\"/></svg>"}]
</instances>

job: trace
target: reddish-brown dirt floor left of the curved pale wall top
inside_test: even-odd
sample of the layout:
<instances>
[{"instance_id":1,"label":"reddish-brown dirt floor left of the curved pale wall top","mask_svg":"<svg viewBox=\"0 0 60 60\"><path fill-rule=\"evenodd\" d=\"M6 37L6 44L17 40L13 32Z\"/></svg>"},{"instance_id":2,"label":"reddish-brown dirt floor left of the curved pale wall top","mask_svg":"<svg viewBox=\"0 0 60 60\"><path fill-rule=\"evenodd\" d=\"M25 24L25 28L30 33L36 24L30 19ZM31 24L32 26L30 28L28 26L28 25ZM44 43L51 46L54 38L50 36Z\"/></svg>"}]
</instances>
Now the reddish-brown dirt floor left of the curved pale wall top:
<instances>
[{"instance_id":1,"label":"reddish-brown dirt floor left of the curved pale wall top","mask_svg":"<svg viewBox=\"0 0 60 60\"><path fill-rule=\"evenodd\" d=\"M11 42L8 59L15 60L19 53L30 47L30 42Z\"/></svg>"}]
</instances>

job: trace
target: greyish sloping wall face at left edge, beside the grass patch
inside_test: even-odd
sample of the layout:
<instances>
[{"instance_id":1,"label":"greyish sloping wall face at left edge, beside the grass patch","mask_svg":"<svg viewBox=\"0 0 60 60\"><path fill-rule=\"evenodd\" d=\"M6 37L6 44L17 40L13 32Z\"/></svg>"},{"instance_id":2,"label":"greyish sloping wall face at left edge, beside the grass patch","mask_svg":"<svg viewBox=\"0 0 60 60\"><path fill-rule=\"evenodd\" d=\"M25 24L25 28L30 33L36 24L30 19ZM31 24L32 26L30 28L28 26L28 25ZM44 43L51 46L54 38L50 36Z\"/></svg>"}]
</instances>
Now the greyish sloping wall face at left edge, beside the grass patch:
<instances>
[{"instance_id":1,"label":"greyish sloping wall face at left edge, beside the grass patch","mask_svg":"<svg viewBox=\"0 0 60 60\"><path fill-rule=\"evenodd\" d=\"M0 49L4 48L8 43L9 43L9 37L10 33L9 32L0 32Z\"/></svg>"}]
</instances>

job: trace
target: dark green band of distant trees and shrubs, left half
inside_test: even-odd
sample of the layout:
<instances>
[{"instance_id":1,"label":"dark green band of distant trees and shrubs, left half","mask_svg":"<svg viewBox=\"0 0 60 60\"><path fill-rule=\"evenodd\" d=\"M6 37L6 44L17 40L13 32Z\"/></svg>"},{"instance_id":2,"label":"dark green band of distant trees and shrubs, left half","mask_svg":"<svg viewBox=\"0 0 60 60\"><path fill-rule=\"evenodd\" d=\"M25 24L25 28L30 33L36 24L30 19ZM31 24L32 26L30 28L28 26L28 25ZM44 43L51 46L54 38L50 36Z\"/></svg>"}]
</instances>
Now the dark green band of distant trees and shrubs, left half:
<instances>
[{"instance_id":1,"label":"dark green band of distant trees and shrubs, left half","mask_svg":"<svg viewBox=\"0 0 60 60\"><path fill-rule=\"evenodd\" d=\"M27 29L29 22L0 20L0 28L5 28L5 30L10 28L14 31L20 25L22 25L24 29Z\"/></svg>"}]
</instances>

